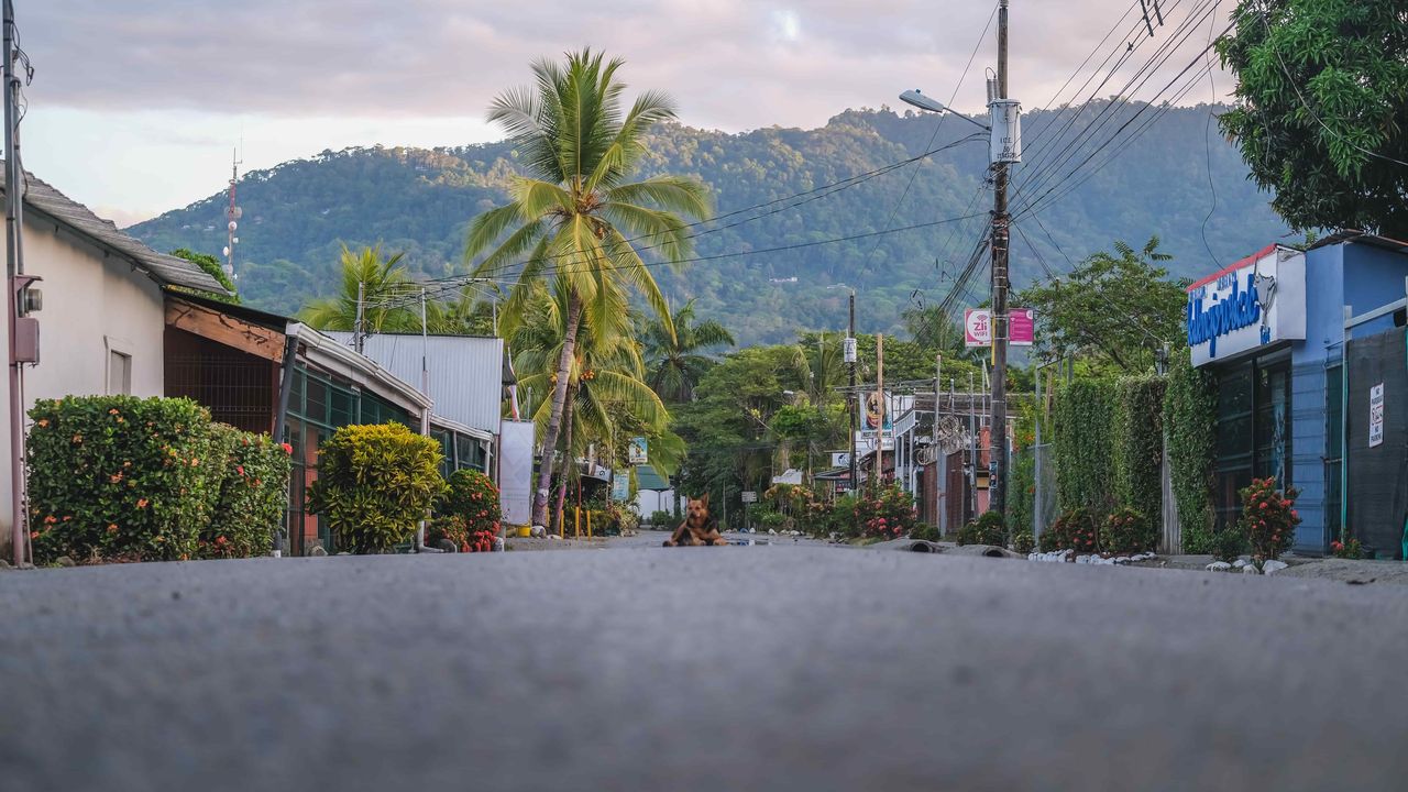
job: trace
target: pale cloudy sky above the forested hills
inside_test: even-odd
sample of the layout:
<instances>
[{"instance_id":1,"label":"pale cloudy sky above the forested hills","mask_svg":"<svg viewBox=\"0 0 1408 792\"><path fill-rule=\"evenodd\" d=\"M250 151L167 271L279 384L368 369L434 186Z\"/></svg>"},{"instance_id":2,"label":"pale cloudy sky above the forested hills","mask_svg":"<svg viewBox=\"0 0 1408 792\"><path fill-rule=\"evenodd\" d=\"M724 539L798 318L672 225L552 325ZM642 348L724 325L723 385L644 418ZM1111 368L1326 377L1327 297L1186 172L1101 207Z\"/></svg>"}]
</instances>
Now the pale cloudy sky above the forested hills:
<instances>
[{"instance_id":1,"label":"pale cloudy sky above the forested hills","mask_svg":"<svg viewBox=\"0 0 1408 792\"><path fill-rule=\"evenodd\" d=\"M1170 27L1187 13L1178 4L1198 6L1163 0ZM625 58L632 87L669 90L681 121L697 127L817 127L846 107L895 106L908 87L948 99L993 11L986 0L15 6L35 69L25 89L25 166L118 224L224 189L241 140L242 171L325 148L496 140L483 120L493 96L525 83L531 61L583 45ZM1046 104L1138 7L1012 0L1011 94L1026 107ZM1205 45L1211 21L1170 63L1187 63ZM1126 17L1101 55L1133 23ZM994 59L988 34L957 107L983 106L981 70ZM1219 78L1219 93L1225 86ZM1211 96L1209 86L1187 101Z\"/></svg>"}]
</instances>

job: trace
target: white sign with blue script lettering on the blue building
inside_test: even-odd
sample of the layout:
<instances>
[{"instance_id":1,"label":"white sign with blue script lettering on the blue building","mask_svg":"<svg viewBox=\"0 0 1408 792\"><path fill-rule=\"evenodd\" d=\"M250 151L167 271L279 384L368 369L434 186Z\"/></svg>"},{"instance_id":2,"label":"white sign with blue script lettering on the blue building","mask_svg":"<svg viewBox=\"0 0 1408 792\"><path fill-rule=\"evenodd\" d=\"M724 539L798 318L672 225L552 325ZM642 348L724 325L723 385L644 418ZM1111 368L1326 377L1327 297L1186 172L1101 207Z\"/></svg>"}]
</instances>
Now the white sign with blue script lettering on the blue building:
<instances>
[{"instance_id":1,"label":"white sign with blue script lettering on the blue building","mask_svg":"<svg viewBox=\"0 0 1408 792\"><path fill-rule=\"evenodd\" d=\"M1188 347L1201 366L1305 338L1305 254L1269 245L1188 287Z\"/></svg>"}]
</instances>

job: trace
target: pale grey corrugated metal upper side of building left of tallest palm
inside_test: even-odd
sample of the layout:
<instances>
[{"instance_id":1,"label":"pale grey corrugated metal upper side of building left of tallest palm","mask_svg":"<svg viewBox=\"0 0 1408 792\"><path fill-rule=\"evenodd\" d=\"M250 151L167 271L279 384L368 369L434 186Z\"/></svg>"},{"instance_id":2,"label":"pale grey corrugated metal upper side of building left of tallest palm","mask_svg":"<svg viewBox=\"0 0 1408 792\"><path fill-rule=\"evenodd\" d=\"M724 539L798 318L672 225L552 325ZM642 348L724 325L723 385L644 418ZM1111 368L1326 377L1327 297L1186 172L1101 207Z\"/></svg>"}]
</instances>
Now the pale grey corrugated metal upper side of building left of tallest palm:
<instances>
[{"instance_id":1,"label":"pale grey corrugated metal upper side of building left of tallest palm","mask_svg":"<svg viewBox=\"0 0 1408 792\"><path fill-rule=\"evenodd\" d=\"M324 331L348 347L352 334ZM379 333L362 342L362 354L406 382L421 383L421 337ZM504 341L473 335L431 335L425 340L434 412L452 421L498 434L504 386Z\"/></svg>"}]
</instances>

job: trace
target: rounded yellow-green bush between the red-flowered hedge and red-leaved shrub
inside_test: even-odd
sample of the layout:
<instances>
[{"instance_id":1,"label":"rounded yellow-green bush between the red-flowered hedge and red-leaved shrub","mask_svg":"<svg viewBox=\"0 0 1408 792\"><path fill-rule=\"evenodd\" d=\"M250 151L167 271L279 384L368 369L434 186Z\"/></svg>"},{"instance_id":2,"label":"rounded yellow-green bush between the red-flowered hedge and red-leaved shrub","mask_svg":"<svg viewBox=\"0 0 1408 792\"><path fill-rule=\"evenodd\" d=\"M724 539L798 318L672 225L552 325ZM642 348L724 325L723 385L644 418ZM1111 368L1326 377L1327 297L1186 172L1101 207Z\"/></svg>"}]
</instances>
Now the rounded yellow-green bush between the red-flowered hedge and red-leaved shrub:
<instances>
[{"instance_id":1,"label":"rounded yellow-green bush between the red-flowered hedge and red-leaved shrub","mask_svg":"<svg viewBox=\"0 0 1408 792\"><path fill-rule=\"evenodd\" d=\"M308 512L328 521L339 550L384 552L410 541L445 490L439 444L401 424L345 426L318 457Z\"/></svg>"}]
</instances>

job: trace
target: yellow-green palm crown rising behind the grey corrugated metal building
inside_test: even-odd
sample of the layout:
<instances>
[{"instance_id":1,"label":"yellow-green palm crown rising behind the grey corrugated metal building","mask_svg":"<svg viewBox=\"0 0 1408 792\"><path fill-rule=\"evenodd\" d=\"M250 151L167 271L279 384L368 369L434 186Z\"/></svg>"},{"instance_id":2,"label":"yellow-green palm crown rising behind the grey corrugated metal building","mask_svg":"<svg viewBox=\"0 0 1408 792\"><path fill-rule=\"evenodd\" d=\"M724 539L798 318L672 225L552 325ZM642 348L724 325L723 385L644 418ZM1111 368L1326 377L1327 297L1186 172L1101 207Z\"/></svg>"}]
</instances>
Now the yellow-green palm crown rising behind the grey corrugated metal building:
<instances>
[{"instance_id":1,"label":"yellow-green palm crown rising behind the grey corrugated metal building","mask_svg":"<svg viewBox=\"0 0 1408 792\"><path fill-rule=\"evenodd\" d=\"M380 245L352 252L342 245L341 290L308 303L301 318L314 330L356 330L360 297L362 330L366 333L408 333L421 328L420 304L410 304L415 285L401 266L401 254L386 258Z\"/></svg>"}]
</instances>

